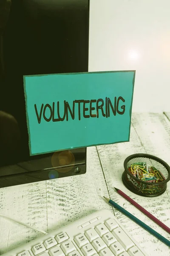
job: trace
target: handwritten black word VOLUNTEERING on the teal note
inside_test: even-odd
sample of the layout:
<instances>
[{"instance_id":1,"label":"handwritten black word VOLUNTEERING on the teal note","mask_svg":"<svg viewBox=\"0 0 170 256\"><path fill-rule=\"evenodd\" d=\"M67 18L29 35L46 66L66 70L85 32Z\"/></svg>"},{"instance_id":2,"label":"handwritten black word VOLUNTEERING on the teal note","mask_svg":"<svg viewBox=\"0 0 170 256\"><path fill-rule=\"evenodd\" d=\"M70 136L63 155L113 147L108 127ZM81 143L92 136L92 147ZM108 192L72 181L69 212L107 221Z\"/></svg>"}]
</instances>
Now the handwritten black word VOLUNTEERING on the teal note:
<instances>
[{"instance_id":1,"label":"handwritten black word VOLUNTEERING on the teal note","mask_svg":"<svg viewBox=\"0 0 170 256\"><path fill-rule=\"evenodd\" d=\"M59 122L64 121L65 119L66 121L68 121L69 118L74 120L75 117L81 120L82 117L99 118L99 115L102 115L103 117L108 118L111 115L116 116L116 113L118 113L119 115L123 115L125 113L125 105L122 105L122 102L124 103L125 99L119 96L118 98L114 97L113 101L111 101L111 99L108 97L106 97L105 100L74 100L72 105L70 105L67 101L64 101L62 104L57 101L57 103L53 102L52 105L44 105L42 103L40 109L37 109L37 105L34 104L34 108L37 116L37 121L40 124L42 118L46 122Z\"/></svg>"}]
</instances>

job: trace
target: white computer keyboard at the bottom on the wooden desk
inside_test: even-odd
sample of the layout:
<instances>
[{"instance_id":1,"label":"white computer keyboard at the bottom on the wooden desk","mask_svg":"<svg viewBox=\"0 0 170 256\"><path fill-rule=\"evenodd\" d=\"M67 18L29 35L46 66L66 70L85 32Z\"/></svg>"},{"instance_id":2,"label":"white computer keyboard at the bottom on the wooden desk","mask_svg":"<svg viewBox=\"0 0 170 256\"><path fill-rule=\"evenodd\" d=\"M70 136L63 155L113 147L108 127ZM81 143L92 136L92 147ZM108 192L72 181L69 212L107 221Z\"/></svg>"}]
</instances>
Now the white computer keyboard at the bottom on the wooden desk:
<instances>
[{"instance_id":1,"label":"white computer keyboard at the bottom on the wooden desk","mask_svg":"<svg viewBox=\"0 0 170 256\"><path fill-rule=\"evenodd\" d=\"M148 256L107 209L96 211L3 256Z\"/></svg>"}]
</instances>

